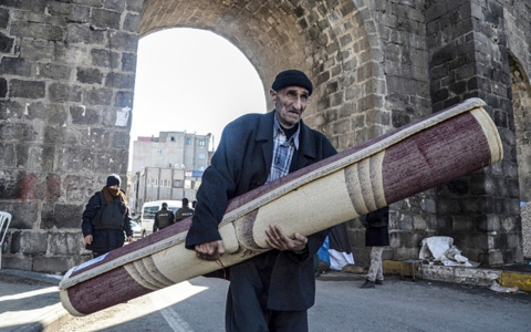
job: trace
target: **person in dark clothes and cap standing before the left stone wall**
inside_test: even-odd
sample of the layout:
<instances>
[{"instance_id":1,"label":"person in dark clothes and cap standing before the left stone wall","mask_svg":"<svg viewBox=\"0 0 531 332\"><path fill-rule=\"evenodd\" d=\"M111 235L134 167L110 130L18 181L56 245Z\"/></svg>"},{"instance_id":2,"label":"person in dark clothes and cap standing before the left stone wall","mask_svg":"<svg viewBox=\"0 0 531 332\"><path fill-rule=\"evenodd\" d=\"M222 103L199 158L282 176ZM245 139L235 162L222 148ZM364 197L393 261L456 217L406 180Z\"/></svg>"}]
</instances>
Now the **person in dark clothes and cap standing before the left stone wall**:
<instances>
[{"instance_id":1,"label":"person in dark clothes and cap standing before the left stone wall","mask_svg":"<svg viewBox=\"0 0 531 332\"><path fill-rule=\"evenodd\" d=\"M119 188L119 176L107 177L106 186L94 194L83 211L81 228L85 248L92 250L93 258L133 241L129 211L125 193Z\"/></svg>"}]
</instances>

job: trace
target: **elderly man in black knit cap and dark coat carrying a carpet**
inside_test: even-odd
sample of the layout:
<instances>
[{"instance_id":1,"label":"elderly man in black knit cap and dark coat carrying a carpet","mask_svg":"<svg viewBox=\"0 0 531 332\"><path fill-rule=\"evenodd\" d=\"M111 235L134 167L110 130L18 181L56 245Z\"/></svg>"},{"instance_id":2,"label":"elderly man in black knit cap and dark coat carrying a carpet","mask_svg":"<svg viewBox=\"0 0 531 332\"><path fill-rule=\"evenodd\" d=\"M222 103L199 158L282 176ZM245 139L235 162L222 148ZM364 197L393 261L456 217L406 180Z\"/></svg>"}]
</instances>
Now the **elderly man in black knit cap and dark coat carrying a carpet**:
<instances>
[{"instance_id":1,"label":"elderly man in black knit cap and dark coat carrying a carpet","mask_svg":"<svg viewBox=\"0 0 531 332\"><path fill-rule=\"evenodd\" d=\"M303 72L281 72L270 90L275 108L243 115L223 129L186 238L200 259L216 260L225 252L218 225L229 199L336 153L301 120L312 91ZM306 310L315 301L313 257L327 230L290 238L272 226L266 234L272 250L230 267L226 330L308 331Z\"/></svg>"}]
</instances>

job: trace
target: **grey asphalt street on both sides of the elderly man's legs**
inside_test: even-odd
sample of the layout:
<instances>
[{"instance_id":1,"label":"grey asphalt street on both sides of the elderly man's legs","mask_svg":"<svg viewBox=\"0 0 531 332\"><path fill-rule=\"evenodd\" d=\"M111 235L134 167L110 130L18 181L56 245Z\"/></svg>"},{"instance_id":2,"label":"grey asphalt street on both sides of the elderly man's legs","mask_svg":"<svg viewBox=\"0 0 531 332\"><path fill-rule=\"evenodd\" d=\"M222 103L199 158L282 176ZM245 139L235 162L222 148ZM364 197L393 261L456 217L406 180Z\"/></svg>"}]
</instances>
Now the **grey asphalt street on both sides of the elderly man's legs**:
<instances>
[{"instance_id":1,"label":"grey asphalt street on both sides of the elderly man's legs","mask_svg":"<svg viewBox=\"0 0 531 332\"><path fill-rule=\"evenodd\" d=\"M310 331L531 331L531 294L389 277L317 279ZM61 331L223 331L228 282L196 278L84 318Z\"/></svg>"}]
</instances>

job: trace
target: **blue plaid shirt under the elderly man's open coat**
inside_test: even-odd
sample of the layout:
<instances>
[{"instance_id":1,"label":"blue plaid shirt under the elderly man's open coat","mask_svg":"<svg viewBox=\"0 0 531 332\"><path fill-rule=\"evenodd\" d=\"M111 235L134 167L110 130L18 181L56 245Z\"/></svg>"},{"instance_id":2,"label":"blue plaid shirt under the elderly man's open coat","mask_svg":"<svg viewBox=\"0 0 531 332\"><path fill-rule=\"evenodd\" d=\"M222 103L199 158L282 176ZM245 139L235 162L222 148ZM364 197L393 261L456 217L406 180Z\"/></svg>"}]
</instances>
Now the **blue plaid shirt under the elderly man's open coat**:
<instances>
[{"instance_id":1,"label":"blue plaid shirt under the elderly man's open coat","mask_svg":"<svg viewBox=\"0 0 531 332\"><path fill-rule=\"evenodd\" d=\"M273 125L273 160L271 163L271 172L269 173L267 184L275 180L288 173L290 173L290 164L293 157L293 152L299 149L299 133L301 127L296 128L296 132L291 136L289 141L285 141L285 134L280 127L277 115L274 115Z\"/></svg>"}]
</instances>

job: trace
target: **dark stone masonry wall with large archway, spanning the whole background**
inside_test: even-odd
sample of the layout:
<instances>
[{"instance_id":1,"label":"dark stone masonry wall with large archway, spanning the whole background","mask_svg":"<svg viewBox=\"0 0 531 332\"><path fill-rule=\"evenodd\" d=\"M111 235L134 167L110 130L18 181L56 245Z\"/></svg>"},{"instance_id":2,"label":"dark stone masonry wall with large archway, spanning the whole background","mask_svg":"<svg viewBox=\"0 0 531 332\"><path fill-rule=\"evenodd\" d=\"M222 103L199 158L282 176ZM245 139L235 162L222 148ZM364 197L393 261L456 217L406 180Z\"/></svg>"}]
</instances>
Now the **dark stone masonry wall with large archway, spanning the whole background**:
<instances>
[{"instance_id":1,"label":"dark stone masonry wall with large archway, spanning the whole background","mask_svg":"<svg viewBox=\"0 0 531 332\"><path fill-rule=\"evenodd\" d=\"M448 235L471 260L521 261L529 12L523 0L4 0L0 210L13 224L2 266L64 272L86 259L84 204L108 173L125 180L138 38L174 27L232 42L266 91L281 70L309 73L304 121L340 151L483 98L504 159L393 204L384 259L415 258L423 238ZM353 219L348 232L366 263L364 229Z\"/></svg>"}]
</instances>

